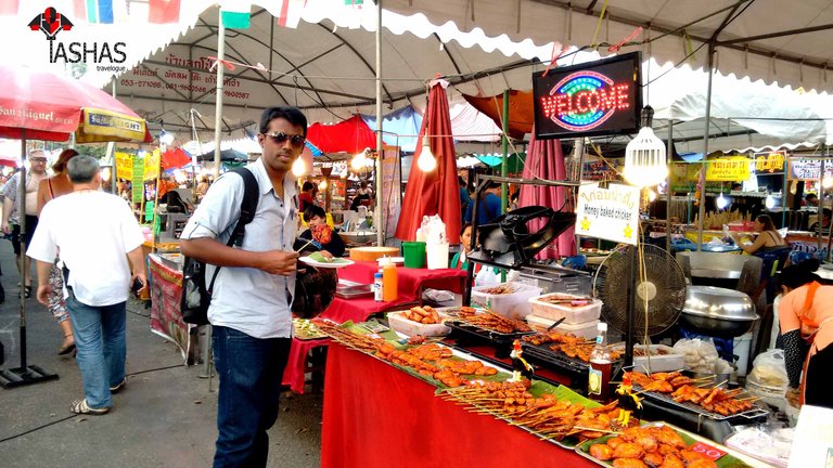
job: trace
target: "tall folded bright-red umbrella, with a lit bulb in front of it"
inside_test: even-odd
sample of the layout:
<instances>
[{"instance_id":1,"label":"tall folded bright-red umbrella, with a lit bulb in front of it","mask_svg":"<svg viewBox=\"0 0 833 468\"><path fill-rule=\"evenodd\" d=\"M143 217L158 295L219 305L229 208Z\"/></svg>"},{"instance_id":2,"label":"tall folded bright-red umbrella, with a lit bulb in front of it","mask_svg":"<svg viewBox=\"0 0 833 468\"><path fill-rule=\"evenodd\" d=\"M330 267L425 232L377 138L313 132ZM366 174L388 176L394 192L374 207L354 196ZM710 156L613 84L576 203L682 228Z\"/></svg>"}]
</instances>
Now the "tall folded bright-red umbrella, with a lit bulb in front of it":
<instances>
[{"instance_id":1,"label":"tall folded bright-red umbrella, with a lit bulb in front of it","mask_svg":"<svg viewBox=\"0 0 833 468\"><path fill-rule=\"evenodd\" d=\"M402 200L402 216L396 226L396 237L401 240L413 240L416 237L416 229L422 223L423 216L439 214L446 223L448 243L460 243L460 183L457 178L457 153L451 136L451 117L445 86L447 83L437 80L431 87L419 140L422 142L427 131L431 152L437 158L437 168L432 172L419 169L416 160L422 153L422 145L418 145Z\"/></svg>"}]
</instances>

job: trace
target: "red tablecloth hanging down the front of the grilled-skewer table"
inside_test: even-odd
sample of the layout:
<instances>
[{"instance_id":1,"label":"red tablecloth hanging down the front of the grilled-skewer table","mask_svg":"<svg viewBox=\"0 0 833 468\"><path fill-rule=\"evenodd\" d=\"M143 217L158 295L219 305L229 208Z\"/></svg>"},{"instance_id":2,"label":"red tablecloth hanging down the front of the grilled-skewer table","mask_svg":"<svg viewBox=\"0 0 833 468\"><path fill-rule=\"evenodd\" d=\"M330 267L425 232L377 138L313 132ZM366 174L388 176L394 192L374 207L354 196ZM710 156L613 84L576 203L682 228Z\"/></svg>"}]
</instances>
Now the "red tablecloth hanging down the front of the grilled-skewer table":
<instances>
[{"instance_id":1,"label":"red tablecloth hanging down the front of the grilled-skewer table","mask_svg":"<svg viewBox=\"0 0 833 468\"><path fill-rule=\"evenodd\" d=\"M326 361L322 467L597 466L358 351L334 343Z\"/></svg>"}]
</instances>

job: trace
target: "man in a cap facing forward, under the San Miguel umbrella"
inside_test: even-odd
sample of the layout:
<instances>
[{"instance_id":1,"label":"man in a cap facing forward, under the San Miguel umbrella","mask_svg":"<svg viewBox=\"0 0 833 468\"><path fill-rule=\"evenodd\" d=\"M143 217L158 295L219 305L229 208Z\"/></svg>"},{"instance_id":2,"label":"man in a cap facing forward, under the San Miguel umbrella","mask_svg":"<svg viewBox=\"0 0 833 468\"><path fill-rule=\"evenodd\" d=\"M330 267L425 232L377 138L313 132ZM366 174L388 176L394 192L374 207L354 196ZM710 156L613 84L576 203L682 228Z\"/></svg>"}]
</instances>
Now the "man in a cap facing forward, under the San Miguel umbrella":
<instances>
[{"instance_id":1,"label":"man in a cap facing forward, under the San Miguel umbrella","mask_svg":"<svg viewBox=\"0 0 833 468\"><path fill-rule=\"evenodd\" d=\"M17 271L21 273L23 295L31 296L31 268L29 259L24 258L21 263L21 242L26 245L31 243L31 236L38 227L38 185L40 181L47 179L47 155L43 150L34 150L29 153L29 162L31 167L26 171L26 198L25 212L21 210L20 182L21 172L14 174L9 183L3 187L3 221L2 230L4 233L12 234L12 245L17 261ZM25 217L26 235L21 238L21 217Z\"/></svg>"}]
</instances>

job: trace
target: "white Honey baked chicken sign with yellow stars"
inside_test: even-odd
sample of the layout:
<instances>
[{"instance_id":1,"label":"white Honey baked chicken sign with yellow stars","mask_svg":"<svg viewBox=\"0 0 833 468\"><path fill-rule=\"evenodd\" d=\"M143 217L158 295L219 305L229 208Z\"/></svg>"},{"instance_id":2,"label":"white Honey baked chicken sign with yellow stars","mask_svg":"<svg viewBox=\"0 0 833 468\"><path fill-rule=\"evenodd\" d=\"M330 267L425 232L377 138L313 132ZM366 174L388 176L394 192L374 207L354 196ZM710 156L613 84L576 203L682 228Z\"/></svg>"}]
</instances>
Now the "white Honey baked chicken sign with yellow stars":
<instances>
[{"instance_id":1,"label":"white Honey baked chicken sign with yellow stars","mask_svg":"<svg viewBox=\"0 0 833 468\"><path fill-rule=\"evenodd\" d=\"M576 235L637 245L639 239L639 188L598 183L578 188Z\"/></svg>"}]
</instances>

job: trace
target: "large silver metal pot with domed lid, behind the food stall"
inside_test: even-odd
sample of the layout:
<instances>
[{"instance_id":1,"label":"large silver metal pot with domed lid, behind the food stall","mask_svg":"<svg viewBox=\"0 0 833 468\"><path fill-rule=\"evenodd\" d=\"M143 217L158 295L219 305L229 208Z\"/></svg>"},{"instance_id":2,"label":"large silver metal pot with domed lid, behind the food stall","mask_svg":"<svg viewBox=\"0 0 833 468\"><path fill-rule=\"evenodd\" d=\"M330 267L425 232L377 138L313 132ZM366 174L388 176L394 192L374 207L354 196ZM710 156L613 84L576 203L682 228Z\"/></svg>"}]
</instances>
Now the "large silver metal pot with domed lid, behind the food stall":
<instances>
[{"instance_id":1,"label":"large silver metal pot with domed lid, behind the food stall","mask_svg":"<svg viewBox=\"0 0 833 468\"><path fill-rule=\"evenodd\" d=\"M758 318L746 294L714 286L689 286L680 315L685 328L720 338L745 334Z\"/></svg>"}]
</instances>

